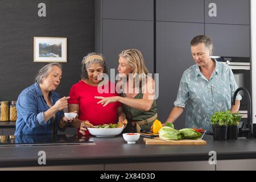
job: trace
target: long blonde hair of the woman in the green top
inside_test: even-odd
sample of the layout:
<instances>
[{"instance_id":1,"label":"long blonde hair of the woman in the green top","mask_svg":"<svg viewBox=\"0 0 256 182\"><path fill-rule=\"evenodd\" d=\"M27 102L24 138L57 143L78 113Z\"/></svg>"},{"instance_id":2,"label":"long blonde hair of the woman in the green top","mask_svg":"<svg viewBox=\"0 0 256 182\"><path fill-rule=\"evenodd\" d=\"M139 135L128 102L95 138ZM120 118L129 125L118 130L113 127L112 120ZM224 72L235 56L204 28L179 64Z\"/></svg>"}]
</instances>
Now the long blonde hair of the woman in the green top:
<instances>
[{"instance_id":1,"label":"long blonde hair of the woman in the green top","mask_svg":"<svg viewBox=\"0 0 256 182\"><path fill-rule=\"evenodd\" d=\"M121 53L119 53L118 57L126 58L128 64L133 69L132 74L134 80L136 76L141 76L139 77L139 84L141 85L142 77L147 77L147 74L149 73L145 65L142 53L138 49L131 48L123 50Z\"/></svg>"}]
</instances>

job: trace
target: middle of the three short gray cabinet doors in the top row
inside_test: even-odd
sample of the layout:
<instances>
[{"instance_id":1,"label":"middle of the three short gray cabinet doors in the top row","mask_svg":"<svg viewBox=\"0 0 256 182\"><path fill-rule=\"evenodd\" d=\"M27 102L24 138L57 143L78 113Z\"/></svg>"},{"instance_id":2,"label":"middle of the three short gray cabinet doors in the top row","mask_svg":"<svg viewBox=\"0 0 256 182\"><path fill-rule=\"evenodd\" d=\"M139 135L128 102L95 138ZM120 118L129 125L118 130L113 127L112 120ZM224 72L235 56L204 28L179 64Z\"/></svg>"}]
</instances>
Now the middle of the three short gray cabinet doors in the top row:
<instances>
[{"instance_id":1,"label":"middle of the three short gray cabinet doors in the top row","mask_svg":"<svg viewBox=\"0 0 256 182\"><path fill-rule=\"evenodd\" d=\"M158 0L156 20L204 23L204 0Z\"/></svg>"}]
</instances>

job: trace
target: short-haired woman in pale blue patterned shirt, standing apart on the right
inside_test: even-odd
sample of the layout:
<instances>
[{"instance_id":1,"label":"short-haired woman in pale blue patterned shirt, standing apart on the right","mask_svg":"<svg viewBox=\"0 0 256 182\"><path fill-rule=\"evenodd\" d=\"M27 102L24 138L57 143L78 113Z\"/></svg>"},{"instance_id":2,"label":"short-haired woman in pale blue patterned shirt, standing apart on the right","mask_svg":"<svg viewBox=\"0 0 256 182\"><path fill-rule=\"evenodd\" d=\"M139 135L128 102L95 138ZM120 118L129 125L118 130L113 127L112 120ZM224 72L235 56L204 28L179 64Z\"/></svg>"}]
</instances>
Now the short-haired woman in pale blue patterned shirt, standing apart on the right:
<instances>
[{"instance_id":1,"label":"short-haired woman in pale blue patterned shirt, standing apart on the right","mask_svg":"<svg viewBox=\"0 0 256 182\"><path fill-rule=\"evenodd\" d=\"M212 59L212 51L213 43L208 36L198 35L191 40L191 53L196 64L184 71L174 108L166 123L175 122L187 106L185 127L212 131L210 115L221 110L238 111L240 94L236 104L232 106L231 103L237 89L233 72L228 65Z\"/></svg>"}]
</instances>

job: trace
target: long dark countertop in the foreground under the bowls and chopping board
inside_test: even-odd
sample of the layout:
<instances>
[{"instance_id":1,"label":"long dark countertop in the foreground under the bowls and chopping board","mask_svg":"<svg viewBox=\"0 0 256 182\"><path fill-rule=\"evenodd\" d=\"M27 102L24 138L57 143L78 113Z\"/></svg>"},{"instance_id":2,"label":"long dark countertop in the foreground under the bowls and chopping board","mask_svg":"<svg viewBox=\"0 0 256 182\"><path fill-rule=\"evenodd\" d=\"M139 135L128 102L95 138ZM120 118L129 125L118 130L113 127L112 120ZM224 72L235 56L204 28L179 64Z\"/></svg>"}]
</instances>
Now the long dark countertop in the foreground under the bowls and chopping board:
<instances>
[{"instance_id":1,"label":"long dark countertop in the foreground under the bowls and chopping board","mask_svg":"<svg viewBox=\"0 0 256 182\"><path fill-rule=\"evenodd\" d=\"M205 146L146 145L142 137L136 144L122 136L93 139L93 145L0 146L0 167L38 166L39 151L46 152L47 166L208 160L209 151L216 151L218 160L256 159L256 139L217 141L205 135Z\"/></svg>"}]
</instances>

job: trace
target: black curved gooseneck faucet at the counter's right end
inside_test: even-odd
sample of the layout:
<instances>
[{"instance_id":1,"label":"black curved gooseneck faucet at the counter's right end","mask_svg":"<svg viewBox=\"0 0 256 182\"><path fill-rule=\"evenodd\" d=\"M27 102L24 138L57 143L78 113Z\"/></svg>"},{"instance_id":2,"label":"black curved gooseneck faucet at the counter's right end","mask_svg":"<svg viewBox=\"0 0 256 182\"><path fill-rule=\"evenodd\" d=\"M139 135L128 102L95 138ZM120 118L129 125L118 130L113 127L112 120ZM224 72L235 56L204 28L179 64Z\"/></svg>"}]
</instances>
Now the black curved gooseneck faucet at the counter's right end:
<instances>
[{"instance_id":1,"label":"black curved gooseneck faucet at the counter's right end","mask_svg":"<svg viewBox=\"0 0 256 182\"><path fill-rule=\"evenodd\" d=\"M241 134L246 133L247 134L246 138L253 138L252 129L251 129L251 127L253 125L251 122L251 119L253 118L251 115L251 97L246 88L240 87L236 90L236 92L234 93L234 96L233 96L232 105L235 105L236 97L240 90L243 90L243 92L245 92L246 97L247 97L247 126L245 129L240 128L238 130L238 133L241 133Z\"/></svg>"}]
</instances>

